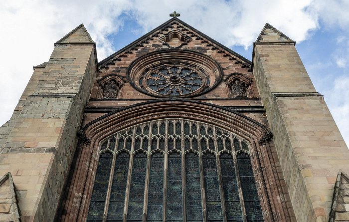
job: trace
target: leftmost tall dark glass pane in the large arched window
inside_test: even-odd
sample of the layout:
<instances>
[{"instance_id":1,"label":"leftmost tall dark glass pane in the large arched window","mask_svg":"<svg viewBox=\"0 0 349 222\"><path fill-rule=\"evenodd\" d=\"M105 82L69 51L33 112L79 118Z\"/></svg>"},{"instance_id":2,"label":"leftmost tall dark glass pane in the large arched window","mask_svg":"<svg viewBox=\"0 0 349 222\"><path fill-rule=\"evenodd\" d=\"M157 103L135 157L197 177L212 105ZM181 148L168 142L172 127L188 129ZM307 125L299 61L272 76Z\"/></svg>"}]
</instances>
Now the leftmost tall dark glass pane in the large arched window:
<instances>
[{"instance_id":1,"label":"leftmost tall dark glass pane in the large arched window","mask_svg":"<svg viewBox=\"0 0 349 222\"><path fill-rule=\"evenodd\" d=\"M104 205L107 196L110 170L112 166L113 155L109 152L101 154L97 166L93 193L90 201L88 221L102 221Z\"/></svg>"}]
</instances>

